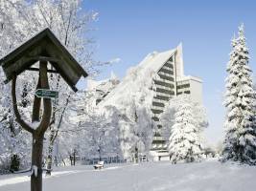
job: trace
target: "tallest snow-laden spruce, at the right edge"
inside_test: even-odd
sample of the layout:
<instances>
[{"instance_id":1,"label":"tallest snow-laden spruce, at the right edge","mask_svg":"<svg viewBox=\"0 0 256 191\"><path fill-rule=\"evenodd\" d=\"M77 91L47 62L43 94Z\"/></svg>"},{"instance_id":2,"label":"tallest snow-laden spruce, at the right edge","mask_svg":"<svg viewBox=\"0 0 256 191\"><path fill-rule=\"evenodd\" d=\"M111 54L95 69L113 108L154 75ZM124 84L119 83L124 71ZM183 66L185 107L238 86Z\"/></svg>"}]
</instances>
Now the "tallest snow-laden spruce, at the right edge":
<instances>
[{"instance_id":1,"label":"tallest snow-laden spruce, at the right edge","mask_svg":"<svg viewBox=\"0 0 256 191\"><path fill-rule=\"evenodd\" d=\"M232 40L232 48L225 79L223 160L256 164L255 92L248 67L244 25L239 27L238 38Z\"/></svg>"}]
</instances>

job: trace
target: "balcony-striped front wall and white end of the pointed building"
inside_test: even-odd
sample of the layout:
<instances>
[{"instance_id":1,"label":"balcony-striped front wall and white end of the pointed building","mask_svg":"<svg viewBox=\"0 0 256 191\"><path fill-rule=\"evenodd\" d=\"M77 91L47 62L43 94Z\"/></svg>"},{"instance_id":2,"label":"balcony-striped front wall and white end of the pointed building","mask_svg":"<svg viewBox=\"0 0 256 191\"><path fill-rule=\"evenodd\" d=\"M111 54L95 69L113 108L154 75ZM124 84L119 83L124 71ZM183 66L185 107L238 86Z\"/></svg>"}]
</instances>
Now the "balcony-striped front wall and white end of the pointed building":
<instances>
[{"instance_id":1,"label":"balcony-striped front wall and white end of the pointed building","mask_svg":"<svg viewBox=\"0 0 256 191\"><path fill-rule=\"evenodd\" d=\"M169 154L167 152L167 141L159 134L159 130L162 128L159 116L163 113L165 105L174 96L191 95L193 101L201 103L202 81L198 77L184 75L181 45L163 63L156 76L158 77L153 79L152 89L155 96L153 97L151 111L153 113L152 120L156 123L158 131L155 132L152 141L151 154L154 153L154 159L162 160Z\"/></svg>"}]
</instances>

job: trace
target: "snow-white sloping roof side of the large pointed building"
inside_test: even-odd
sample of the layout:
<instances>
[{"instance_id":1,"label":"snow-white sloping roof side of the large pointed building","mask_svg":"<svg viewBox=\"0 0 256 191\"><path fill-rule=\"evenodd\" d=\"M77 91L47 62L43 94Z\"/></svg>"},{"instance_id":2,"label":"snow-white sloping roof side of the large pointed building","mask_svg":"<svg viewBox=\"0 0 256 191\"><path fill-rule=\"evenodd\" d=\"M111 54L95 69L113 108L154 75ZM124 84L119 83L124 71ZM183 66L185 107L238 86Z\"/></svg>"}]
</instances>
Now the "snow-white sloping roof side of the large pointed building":
<instances>
[{"instance_id":1,"label":"snow-white sloping roof side of the large pointed building","mask_svg":"<svg viewBox=\"0 0 256 191\"><path fill-rule=\"evenodd\" d=\"M130 96L148 94L152 78L175 52L176 49L162 53L149 53L137 66L128 69L122 82L99 103L99 107L123 105Z\"/></svg>"}]
</instances>

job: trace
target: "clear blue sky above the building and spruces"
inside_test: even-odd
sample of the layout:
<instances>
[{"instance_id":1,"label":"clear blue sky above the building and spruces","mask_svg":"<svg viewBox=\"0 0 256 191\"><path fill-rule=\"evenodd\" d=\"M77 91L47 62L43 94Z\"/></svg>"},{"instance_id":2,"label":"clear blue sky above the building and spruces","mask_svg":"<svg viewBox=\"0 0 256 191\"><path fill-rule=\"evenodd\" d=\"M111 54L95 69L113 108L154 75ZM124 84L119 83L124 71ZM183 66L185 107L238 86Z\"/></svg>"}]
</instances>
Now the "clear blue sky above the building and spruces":
<instances>
[{"instance_id":1,"label":"clear blue sky above the building and spruces","mask_svg":"<svg viewBox=\"0 0 256 191\"><path fill-rule=\"evenodd\" d=\"M251 0L84 0L83 8L99 12L93 24L95 58L118 63L106 67L99 79L113 71L122 78L130 66L153 51L174 49L183 43L185 74L203 80L210 142L223 135L225 67L230 39L243 22L250 67L256 72L256 3Z\"/></svg>"}]
</instances>

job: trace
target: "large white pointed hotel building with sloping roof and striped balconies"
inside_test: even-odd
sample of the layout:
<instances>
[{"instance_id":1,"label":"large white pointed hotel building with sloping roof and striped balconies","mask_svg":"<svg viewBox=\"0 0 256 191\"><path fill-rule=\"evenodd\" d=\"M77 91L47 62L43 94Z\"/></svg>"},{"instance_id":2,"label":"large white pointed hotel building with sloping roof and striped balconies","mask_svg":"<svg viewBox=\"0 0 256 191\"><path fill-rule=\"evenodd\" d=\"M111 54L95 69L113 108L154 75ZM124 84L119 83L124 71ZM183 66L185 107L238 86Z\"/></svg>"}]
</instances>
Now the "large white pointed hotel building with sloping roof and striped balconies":
<instances>
[{"instance_id":1,"label":"large white pointed hotel building with sloping roof and striped balconies","mask_svg":"<svg viewBox=\"0 0 256 191\"><path fill-rule=\"evenodd\" d=\"M198 77L184 75L181 44L170 51L149 53L135 68L139 71L136 75L140 77L134 80L127 74L120 83L116 84L116 87L109 89L109 91L105 90L105 94L97 97L97 100L101 100L101 106L114 105L119 107L124 103L123 100L128 98L124 96L128 94L128 90L135 91L133 94L140 94L140 92L136 92L140 89L152 90L151 119L157 128L155 128L150 154L153 160L170 159L167 141L160 134L162 128L160 115L169 100L175 96L187 94L191 96L193 101L201 102L202 80ZM139 87L144 86L145 83L136 80L147 80L148 86ZM110 81L109 79L108 82ZM101 91L104 84L105 82L95 87L96 91ZM135 86L137 89L131 88Z\"/></svg>"}]
</instances>

